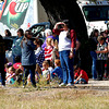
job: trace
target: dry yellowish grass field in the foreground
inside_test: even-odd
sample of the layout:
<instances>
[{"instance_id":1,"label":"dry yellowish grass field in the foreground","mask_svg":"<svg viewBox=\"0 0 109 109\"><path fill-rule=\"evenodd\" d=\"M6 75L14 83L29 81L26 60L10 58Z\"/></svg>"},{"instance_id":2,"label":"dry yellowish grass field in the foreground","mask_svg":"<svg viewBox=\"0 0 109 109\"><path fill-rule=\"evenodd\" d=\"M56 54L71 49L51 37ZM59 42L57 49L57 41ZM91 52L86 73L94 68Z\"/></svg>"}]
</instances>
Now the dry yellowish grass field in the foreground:
<instances>
[{"instance_id":1,"label":"dry yellowish grass field in the foreground","mask_svg":"<svg viewBox=\"0 0 109 109\"><path fill-rule=\"evenodd\" d=\"M109 109L109 92L77 88L0 88L0 109Z\"/></svg>"}]
</instances>

